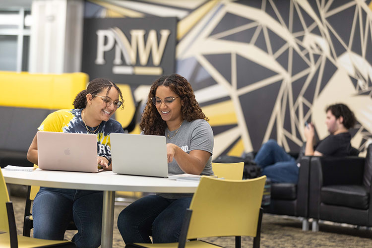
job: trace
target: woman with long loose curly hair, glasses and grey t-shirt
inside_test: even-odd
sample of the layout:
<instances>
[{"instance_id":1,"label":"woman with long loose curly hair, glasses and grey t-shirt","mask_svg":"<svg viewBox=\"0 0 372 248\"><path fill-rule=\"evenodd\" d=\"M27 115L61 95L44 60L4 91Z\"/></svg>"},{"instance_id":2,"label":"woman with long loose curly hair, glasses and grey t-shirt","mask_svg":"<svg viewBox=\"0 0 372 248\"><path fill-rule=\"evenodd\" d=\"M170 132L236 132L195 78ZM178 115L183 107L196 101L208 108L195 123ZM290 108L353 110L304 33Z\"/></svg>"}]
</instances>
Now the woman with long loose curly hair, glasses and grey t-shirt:
<instances>
[{"instance_id":1,"label":"woman with long loose curly hair, glasses and grey t-shirt","mask_svg":"<svg viewBox=\"0 0 372 248\"><path fill-rule=\"evenodd\" d=\"M172 74L156 80L142 114L143 134L167 139L170 174L213 175L213 132L187 80ZM118 228L126 244L177 242L192 194L157 193L124 208Z\"/></svg>"}]
</instances>

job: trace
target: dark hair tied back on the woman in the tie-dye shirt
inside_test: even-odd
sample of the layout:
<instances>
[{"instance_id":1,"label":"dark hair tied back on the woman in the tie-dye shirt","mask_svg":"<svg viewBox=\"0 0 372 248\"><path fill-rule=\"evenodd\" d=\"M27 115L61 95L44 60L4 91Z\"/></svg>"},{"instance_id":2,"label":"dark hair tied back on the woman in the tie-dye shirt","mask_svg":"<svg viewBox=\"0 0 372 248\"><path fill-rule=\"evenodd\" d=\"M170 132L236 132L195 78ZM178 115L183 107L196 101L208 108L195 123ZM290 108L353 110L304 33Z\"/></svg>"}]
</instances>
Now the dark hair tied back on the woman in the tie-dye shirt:
<instances>
[{"instance_id":1,"label":"dark hair tied back on the woman in the tie-dye shirt","mask_svg":"<svg viewBox=\"0 0 372 248\"><path fill-rule=\"evenodd\" d=\"M111 87L114 87L119 92L120 99L122 100L122 102L124 102L122 91L114 82L110 81L109 79L105 79L105 78L96 78L89 82L86 90L82 90L76 95L75 100L73 100L72 105L75 109L84 109L87 104L87 100L86 100L87 94L92 94L92 97L95 98L95 96L93 95L97 95L103 89L107 88L106 96L109 96ZM124 108L124 105L122 105L122 108Z\"/></svg>"}]
</instances>

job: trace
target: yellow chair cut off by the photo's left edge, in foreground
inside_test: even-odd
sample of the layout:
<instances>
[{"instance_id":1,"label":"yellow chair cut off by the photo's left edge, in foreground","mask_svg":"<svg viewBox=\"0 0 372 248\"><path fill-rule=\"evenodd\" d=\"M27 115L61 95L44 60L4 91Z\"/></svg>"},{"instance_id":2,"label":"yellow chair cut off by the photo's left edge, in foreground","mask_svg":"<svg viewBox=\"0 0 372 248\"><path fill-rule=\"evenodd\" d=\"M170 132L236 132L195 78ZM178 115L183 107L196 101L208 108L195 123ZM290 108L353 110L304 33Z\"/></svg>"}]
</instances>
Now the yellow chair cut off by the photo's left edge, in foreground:
<instances>
[{"instance_id":1,"label":"yellow chair cut off by the photo's left edge, in foreground","mask_svg":"<svg viewBox=\"0 0 372 248\"><path fill-rule=\"evenodd\" d=\"M0 170L0 247L1 248L37 248L63 247L74 248L70 241L41 240L17 235L13 204L9 199L4 177Z\"/></svg>"}]
</instances>

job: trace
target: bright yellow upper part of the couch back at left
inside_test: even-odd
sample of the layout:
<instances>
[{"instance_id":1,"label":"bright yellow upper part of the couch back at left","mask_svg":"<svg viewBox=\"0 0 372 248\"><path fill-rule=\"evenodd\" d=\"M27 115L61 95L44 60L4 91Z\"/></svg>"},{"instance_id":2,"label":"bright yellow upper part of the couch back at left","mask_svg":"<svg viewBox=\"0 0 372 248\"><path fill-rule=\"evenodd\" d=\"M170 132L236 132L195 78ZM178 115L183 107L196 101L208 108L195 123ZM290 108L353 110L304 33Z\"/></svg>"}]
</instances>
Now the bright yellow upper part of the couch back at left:
<instances>
[{"instance_id":1,"label":"bright yellow upper part of the couch back at left","mask_svg":"<svg viewBox=\"0 0 372 248\"><path fill-rule=\"evenodd\" d=\"M72 109L77 93L86 88L88 75L82 72L64 74L30 74L0 71L0 106Z\"/></svg>"}]
</instances>

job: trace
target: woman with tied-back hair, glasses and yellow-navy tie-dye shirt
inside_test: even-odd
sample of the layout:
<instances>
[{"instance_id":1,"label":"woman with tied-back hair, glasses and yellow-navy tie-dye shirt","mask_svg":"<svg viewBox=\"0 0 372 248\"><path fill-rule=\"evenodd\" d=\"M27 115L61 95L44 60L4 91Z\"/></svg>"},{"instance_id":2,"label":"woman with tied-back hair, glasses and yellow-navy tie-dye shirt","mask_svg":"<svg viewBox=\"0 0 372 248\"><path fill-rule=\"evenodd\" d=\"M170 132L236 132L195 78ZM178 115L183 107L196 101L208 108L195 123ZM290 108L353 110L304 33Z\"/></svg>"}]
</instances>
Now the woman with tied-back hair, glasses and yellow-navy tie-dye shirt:
<instances>
[{"instance_id":1,"label":"woman with tied-back hair, glasses and yellow-navy tie-dye shirt","mask_svg":"<svg viewBox=\"0 0 372 248\"><path fill-rule=\"evenodd\" d=\"M111 170L110 133L124 132L111 116L122 105L120 88L110 80L97 78L77 94L74 109L50 114L38 130L97 134L97 166ZM27 159L38 164L37 135ZM99 247L102 200L102 191L40 187L32 207L34 238L63 240L67 225L73 220L78 230L72 238L76 247Z\"/></svg>"}]
</instances>

